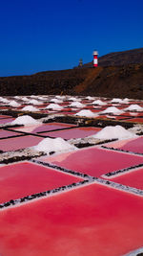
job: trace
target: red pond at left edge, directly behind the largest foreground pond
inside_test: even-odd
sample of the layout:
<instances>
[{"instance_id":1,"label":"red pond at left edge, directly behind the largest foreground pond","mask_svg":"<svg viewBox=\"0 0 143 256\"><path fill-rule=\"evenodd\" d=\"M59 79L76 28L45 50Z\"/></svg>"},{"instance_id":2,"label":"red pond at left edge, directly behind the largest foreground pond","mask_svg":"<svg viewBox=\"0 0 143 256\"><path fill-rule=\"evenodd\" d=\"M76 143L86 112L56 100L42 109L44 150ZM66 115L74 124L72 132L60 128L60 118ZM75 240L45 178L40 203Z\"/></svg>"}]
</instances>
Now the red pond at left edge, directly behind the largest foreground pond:
<instances>
[{"instance_id":1,"label":"red pond at left edge, directly behind the largest foreground pond","mask_svg":"<svg viewBox=\"0 0 143 256\"><path fill-rule=\"evenodd\" d=\"M82 178L63 174L30 162L0 167L0 203L72 184L80 180Z\"/></svg>"}]
</instances>

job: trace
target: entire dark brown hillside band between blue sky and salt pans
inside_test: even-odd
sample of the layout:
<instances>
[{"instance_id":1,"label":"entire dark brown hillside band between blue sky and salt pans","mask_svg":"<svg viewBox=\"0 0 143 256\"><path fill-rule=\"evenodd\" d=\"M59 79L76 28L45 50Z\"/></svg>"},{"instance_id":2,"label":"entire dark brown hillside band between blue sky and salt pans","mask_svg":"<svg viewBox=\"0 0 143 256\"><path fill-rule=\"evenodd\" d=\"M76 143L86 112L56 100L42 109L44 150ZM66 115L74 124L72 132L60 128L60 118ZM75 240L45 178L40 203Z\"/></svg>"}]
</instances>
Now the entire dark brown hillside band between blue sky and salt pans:
<instances>
[{"instance_id":1,"label":"entire dark brown hillside band between blue sky and salt pans","mask_svg":"<svg viewBox=\"0 0 143 256\"><path fill-rule=\"evenodd\" d=\"M112 53L83 68L0 78L0 95L69 94L143 99L143 48Z\"/></svg>"}]
</instances>

